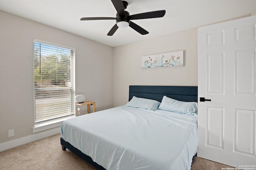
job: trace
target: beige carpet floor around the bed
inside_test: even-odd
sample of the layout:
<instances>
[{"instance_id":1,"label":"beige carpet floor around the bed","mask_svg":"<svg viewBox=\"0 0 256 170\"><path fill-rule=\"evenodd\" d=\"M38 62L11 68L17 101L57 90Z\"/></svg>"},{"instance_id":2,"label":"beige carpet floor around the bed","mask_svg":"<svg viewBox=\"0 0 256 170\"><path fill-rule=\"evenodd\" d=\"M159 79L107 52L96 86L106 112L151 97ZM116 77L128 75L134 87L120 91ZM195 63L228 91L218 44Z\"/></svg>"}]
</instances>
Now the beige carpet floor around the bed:
<instances>
[{"instance_id":1,"label":"beige carpet floor around the bed","mask_svg":"<svg viewBox=\"0 0 256 170\"><path fill-rule=\"evenodd\" d=\"M232 168L195 157L191 170ZM63 151L60 134L0 152L0 170L96 170L70 150Z\"/></svg>"}]
</instances>

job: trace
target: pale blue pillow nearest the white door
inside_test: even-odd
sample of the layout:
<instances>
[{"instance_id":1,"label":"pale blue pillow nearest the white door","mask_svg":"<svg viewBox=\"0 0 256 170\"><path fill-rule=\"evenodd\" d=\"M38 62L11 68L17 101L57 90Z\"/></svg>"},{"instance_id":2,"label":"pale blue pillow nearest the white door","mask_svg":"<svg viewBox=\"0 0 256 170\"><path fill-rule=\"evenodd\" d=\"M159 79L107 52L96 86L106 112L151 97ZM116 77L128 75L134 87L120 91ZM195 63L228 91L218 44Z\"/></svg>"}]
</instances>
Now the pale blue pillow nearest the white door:
<instances>
[{"instance_id":1,"label":"pale blue pillow nearest the white door","mask_svg":"<svg viewBox=\"0 0 256 170\"><path fill-rule=\"evenodd\" d=\"M158 109L194 115L197 111L197 102L182 102L164 96Z\"/></svg>"}]
</instances>

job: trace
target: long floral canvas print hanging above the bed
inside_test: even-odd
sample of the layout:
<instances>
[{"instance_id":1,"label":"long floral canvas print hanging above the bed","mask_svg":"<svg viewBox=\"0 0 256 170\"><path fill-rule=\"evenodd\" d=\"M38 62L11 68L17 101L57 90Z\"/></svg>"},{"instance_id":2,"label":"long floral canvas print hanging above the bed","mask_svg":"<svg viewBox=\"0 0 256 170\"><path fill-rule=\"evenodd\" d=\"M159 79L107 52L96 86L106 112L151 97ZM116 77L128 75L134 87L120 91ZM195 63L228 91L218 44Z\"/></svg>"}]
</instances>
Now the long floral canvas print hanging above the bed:
<instances>
[{"instance_id":1,"label":"long floral canvas print hanging above the bed","mask_svg":"<svg viewBox=\"0 0 256 170\"><path fill-rule=\"evenodd\" d=\"M170 68L184 66L184 51L174 51L154 55L146 55L141 58L141 68Z\"/></svg>"}]
</instances>

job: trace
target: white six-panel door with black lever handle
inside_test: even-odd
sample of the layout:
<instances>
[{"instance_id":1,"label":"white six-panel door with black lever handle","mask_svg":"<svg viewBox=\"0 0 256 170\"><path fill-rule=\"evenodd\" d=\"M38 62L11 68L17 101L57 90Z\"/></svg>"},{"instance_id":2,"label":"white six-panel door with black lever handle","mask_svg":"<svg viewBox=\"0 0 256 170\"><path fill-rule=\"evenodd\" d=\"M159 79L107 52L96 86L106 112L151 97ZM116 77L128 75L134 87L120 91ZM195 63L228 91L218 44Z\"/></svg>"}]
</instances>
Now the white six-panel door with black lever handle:
<instances>
[{"instance_id":1,"label":"white six-panel door with black lever handle","mask_svg":"<svg viewBox=\"0 0 256 170\"><path fill-rule=\"evenodd\" d=\"M197 156L237 168L256 168L255 24L198 28Z\"/></svg>"}]
</instances>

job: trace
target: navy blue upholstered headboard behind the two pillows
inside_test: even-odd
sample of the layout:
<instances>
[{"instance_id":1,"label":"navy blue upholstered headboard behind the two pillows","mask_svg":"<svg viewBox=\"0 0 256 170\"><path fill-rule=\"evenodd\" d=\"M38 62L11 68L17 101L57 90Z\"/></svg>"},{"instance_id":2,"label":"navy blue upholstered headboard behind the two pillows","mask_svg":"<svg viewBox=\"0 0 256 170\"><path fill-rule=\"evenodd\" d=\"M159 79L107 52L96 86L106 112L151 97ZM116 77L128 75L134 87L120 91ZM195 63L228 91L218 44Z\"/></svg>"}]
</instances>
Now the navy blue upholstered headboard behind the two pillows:
<instances>
[{"instance_id":1,"label":"navy blue upholstered headboard behind the two pillows","mask_svg":"<svg viewBox=\"0 0 256 170\"><path fill-rule=\"evenodd\" d=\"M197 86L129 86L129 101L133 96L162 101L163 96L184 102L197 102Z\"/></svg>"}]
</instances>

